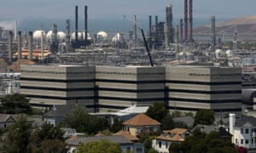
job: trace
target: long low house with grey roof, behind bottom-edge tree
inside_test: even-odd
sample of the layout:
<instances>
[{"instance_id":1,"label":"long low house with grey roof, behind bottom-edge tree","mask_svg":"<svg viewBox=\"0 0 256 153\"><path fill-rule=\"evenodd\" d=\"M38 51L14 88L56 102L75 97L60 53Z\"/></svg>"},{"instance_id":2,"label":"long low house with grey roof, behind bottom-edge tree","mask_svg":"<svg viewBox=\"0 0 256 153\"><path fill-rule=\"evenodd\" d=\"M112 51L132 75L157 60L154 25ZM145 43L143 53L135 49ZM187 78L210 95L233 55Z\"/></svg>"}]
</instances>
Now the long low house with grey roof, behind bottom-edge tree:
<instances>
[{"instance_id":1,"label":"long low house with grey roof, behind bottom-edge tree","mask_svg":"<svg viewBox=\"0 0 256 153\"><path fill-rule=\"evenodd\" d=\"M94 137L83 137L83 138L71 138L67 139L66 143L70 147L70 150L76 150L75 148L79 144L87 144L91 141L99 141L102 139L107 139L111 143L119 144L119 147L122 149L122 152L134 152L134 153L144 153L144 146L142 143L134 143L129 139L126 139L122 135L113 135L113 136L94 136ZM71 152L71 151L69 151Z\"/></svg>"}]
</instances>

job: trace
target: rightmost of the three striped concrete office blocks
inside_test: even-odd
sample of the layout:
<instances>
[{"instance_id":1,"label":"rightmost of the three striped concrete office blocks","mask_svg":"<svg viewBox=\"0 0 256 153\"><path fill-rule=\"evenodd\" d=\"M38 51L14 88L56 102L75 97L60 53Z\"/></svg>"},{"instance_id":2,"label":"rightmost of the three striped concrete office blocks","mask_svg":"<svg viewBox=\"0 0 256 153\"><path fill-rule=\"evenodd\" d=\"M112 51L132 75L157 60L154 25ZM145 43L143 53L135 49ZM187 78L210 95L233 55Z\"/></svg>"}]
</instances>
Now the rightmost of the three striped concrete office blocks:
<instances>
[{"instance_id":1,"label":"rightmost of the three striped concrete office blocks","mask_svg":"<svg viewBox=\"0 0 256 153\"><path fill-rule=\"evenodd\" d=\"M212 109L241 115L241 68L166 67L166 87L172 111Z\"/></svg>"}]
</instances>

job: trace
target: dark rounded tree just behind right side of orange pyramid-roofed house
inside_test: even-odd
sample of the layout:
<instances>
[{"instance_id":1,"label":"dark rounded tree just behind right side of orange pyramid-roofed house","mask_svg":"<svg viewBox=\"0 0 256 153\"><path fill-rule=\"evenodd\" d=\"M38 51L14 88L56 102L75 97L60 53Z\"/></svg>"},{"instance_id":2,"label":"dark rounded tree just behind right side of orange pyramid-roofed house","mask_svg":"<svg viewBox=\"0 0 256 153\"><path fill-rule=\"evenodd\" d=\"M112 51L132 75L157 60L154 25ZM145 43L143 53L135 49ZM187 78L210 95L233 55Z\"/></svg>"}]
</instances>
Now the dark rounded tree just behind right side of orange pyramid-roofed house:
<instances>
[{"instance_id":1,"label":"dark rounded tree just behind right side of orange pyramid-roofed house","mask_svg":"<svg viewBox=\"0 0 256 153\"><path fill-rule=\"evenodd\" d=\"M169 113L163 102L154 102L153 105L150 105L146 115L154 118L158 122L161 122L162 119Z\"/></svg>"}]
</instances>

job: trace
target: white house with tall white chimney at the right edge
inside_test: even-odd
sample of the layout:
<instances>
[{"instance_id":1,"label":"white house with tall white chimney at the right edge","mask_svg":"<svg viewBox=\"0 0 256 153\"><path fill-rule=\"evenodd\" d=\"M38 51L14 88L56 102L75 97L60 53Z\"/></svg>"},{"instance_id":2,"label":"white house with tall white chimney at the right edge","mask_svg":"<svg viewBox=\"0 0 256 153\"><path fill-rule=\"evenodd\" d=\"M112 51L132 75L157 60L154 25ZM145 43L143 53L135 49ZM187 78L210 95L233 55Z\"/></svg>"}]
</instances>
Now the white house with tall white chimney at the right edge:
<instances>
[{"instance_id":1,"label":"white house with tall white chimney at the right edge","mask_svg":"<svg viewBox=\"0 0 256 153\"><path fill-rule=\"evenodd\" d=\"M232 143L247 149L256 148L256 118L242 116L236 119L235 114L230 114L230 133L233 135Z\"/></svg>"}]
</instances>

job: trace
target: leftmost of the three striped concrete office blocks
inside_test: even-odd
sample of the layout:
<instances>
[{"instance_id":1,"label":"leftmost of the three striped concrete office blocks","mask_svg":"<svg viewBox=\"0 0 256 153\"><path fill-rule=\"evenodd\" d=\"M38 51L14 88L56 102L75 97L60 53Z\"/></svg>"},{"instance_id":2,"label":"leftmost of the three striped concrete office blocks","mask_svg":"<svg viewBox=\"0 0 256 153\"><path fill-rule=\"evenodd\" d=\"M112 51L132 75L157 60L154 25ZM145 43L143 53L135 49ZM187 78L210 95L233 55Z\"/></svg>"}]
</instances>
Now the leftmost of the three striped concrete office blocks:
<instances>
[{"instance_id":1,"label":"leftmost of the three striped concrete office blocks","mask_svg":"<svg viewBox=\"0 0 256 153\"><path fill-rule=\"evenodd\" d=\"M93 107L95 67L81 65L20 65L20 94L33 106L85 104Z\"/></svg>"}]
</instances>

